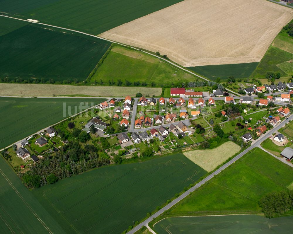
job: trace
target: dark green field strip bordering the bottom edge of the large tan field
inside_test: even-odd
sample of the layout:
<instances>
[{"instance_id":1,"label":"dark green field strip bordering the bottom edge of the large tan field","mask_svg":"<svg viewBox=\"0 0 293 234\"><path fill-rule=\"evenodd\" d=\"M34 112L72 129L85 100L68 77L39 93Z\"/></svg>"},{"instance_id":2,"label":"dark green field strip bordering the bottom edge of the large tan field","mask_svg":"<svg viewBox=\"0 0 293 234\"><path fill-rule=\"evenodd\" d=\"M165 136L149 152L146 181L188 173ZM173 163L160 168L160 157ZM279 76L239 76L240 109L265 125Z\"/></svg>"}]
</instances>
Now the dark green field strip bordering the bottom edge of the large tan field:
<instances>
[{"instance_id":1,"label":"dark green field strip bordering the bottom edge of the large tan field","mask_svg":"<svg viewBox=\"0 0 293 234\"><path fill-rule=\"evenodd\" d=\"M225 65L207 65L188 67L189 70L205 76L211 80L220 77L226 80L229 76L235 78L246 78L251 75L258 63L240 63L240 64L225 64Z\"/></svg>"}]
</instances>

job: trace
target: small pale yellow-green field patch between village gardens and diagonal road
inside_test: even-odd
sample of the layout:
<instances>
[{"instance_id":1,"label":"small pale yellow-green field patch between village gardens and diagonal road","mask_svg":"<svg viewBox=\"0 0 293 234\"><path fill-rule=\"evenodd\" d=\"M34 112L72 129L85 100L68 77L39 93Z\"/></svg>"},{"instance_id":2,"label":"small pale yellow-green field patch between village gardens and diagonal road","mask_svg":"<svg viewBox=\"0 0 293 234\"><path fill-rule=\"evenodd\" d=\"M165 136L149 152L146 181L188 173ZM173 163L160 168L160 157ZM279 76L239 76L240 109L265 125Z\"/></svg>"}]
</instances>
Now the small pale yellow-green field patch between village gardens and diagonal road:
<instances>
[{"instance_id":1,"label":"small pale yellow-green field patch between village gardens and diagonal road","mask_svg":"<svg viewBox=\"0 0 293 234\"><path fill-rule=\"evenodd\" d=\"M193 150L183 154L195 164L210 172L240 151L240 149L240 146L228 141L214 149Z\"/></svg>"}]
</instances>

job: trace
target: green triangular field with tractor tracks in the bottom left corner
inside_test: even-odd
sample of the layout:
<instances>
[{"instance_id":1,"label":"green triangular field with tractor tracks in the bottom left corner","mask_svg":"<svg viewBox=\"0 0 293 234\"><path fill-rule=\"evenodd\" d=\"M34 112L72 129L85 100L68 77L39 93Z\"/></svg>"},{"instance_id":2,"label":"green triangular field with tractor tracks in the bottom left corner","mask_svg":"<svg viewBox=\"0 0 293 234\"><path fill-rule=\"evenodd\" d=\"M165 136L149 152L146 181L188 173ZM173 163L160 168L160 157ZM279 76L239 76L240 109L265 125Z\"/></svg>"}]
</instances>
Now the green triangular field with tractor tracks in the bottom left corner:
<instances>
[{"instance_id":1,"label":"green triangular field with tractor tracks in the bottom left corner","mask_svg":"<svg viewBox=\"0 0 293 234\"><path fill-rule=\"evenodd\" d=\"M0 154L1 233L65 233Z\"/></svg>"}]
</instances>

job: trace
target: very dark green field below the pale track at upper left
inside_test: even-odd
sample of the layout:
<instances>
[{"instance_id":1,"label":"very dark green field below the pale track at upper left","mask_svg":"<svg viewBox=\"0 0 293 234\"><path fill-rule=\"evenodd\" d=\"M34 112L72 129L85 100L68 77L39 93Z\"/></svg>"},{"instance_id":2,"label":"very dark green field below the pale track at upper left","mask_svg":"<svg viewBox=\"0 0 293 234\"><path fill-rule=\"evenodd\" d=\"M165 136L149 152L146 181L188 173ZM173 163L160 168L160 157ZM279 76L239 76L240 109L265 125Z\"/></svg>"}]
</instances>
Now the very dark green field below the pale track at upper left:
<instances>
[{"instance_id":1,"label":"very dark green field below the pale track at upper left","mask_svg":"<svg viewBox=\"0 0 293 234\"><path fill-rule=\"evenodd\" d=\"M6 21L0 17L0 24ZM13 21L15 27L23 25ZM2 35L0 44L0 77L83 81L111 43L28 24Z\"/></svg>"}]
</instances>

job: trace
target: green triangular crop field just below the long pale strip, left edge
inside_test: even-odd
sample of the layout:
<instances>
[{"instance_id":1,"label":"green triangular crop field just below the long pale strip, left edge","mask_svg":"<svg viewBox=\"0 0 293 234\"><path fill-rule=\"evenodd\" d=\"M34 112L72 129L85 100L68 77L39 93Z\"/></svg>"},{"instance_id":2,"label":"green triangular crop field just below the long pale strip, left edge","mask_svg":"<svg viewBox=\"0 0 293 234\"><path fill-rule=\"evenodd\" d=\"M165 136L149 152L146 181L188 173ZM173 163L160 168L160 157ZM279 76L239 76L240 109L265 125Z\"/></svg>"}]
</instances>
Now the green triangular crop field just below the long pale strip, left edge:
<instances>
[{"instance_id":1,"label":"green triangular crop field just below the long pale strip, left edge","mask_svg":"<svg viewBox=\"0 0 293 234\"><path fill-rule=\"evenodd\" d=\"M88 107L101 103L101 98L3 98L0 97L0 148L6 147L29 136L51 124L69 116L66 108L80 103L88 103ZM65 112L65 113L64 113ZM76 112L77 113L77 112ZM65 116L64 116L65 115Z\"/></svg>"}]
</instances>

